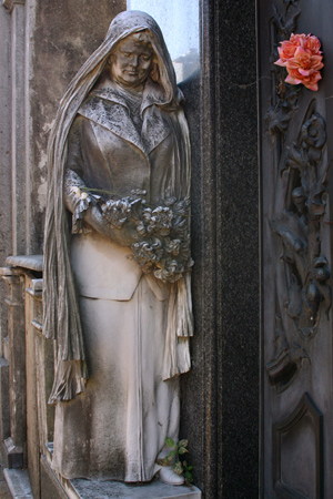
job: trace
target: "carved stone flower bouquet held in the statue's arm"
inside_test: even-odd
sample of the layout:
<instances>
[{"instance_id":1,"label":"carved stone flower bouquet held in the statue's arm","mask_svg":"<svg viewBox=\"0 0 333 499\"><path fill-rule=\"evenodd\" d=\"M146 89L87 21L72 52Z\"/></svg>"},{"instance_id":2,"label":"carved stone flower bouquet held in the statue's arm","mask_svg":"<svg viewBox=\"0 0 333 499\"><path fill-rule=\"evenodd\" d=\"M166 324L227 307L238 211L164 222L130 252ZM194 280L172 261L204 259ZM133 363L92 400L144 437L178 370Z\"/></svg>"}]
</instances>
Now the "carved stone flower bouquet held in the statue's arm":
<instances>
[{"instance_id":1,"label":"carved stone flower bouquet held in the statue's arm","mask_svg":"<svg viewBox=\"0 0 333 499\"><path fill-rule=\"evenodd\" d=\"M123 197L101 204L113 228L135 221L139 241L131 246L132 258L147 274L153 273L164 283L179 281L192 266L190 253L190 200L170 197L164 206L148 207L142 200Z\"/></svg>"}]
</instances>

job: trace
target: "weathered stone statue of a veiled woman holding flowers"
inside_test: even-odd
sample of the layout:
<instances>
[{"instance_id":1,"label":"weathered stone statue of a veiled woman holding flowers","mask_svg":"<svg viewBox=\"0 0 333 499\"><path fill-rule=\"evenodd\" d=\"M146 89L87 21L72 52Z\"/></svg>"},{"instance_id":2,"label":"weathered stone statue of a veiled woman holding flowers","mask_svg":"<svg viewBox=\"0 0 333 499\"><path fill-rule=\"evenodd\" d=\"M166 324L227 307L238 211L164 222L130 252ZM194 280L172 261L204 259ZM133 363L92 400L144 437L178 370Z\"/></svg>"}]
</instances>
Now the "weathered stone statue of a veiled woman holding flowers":
<instances>
[{"instance_id":1,"label":"weathered stone statue of a veiled woman holding flowers","mask_svg":"<svg viewBox=\"0 0 333 499\"><path fill-rule=\"evenodd\" d=\"M182 100L155 21L122 12L51 132L43 332L57 342L52 467L67 478L149 481L178 440L192 335Z\"/></svg>"}]
</instances>

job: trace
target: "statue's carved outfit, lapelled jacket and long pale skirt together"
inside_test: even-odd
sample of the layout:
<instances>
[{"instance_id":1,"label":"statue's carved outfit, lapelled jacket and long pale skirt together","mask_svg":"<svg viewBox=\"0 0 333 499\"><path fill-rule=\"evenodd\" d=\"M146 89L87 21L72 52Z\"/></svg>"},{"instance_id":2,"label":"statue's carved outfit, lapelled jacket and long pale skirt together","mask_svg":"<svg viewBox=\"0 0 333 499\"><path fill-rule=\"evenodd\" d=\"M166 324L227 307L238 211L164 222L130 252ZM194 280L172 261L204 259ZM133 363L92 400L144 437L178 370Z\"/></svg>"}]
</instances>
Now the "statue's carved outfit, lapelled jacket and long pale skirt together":
<instances>
[{"instance_id":1,"label":"statue's carved outfit, lapelled jacket and long pale skirt together","mask_svg":"<svg viewBox=\"0 0 333 499\"><path fill-rule=\"evenodd\" d=\"M88 187L145 192L158 206L186 194L189 159L182 111L165 112L147 95L140 133L121 93L91 92L69 134L67 167ZM90 378L56 408L52 467L67 478L151 480L165 437L178 439L179 378L163 375L172 286L143 275L130 253L95 231L71 236ZM188 339L179 339L184 348Z\"/></svg>"}]
</instances>

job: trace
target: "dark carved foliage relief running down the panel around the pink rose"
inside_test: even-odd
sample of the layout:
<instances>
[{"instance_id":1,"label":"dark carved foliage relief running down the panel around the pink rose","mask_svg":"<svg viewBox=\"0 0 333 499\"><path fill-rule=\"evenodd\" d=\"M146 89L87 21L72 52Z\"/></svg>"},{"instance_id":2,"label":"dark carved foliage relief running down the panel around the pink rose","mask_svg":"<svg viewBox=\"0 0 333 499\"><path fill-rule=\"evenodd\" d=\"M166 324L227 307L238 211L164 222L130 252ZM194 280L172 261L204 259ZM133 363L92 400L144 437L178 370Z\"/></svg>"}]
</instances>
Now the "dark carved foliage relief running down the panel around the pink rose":
<instances>
[{"instance_id":1,"label":"dark carved foliage relief running down the panel around the pink rose","mask_svg":"<svg viewBox=\"0 0 333 499\"><path fill-rule=\"evenodd\" d=\"M274 9L272 62L276 60L279 41L296 30L299 3L284 1L283 16ZM280 278L275 288L274 352L266 369L271 385L281 393L291 385L303 359L311 364L307 344L331 307L330 265L321 248L329 166L323 155L325 121L316 111L314 100L305 112L297 139L286 146L285 135L293 114L299 111L301 94L296 85L284 83L284 69L274 67L272 74L275 93L266 114L266 130L275 149L275 167L280 170L274 186L280 201L275 203L270 226L280 238L282 254L281 262L276 262Z\"/></svg>"}]
</instances>

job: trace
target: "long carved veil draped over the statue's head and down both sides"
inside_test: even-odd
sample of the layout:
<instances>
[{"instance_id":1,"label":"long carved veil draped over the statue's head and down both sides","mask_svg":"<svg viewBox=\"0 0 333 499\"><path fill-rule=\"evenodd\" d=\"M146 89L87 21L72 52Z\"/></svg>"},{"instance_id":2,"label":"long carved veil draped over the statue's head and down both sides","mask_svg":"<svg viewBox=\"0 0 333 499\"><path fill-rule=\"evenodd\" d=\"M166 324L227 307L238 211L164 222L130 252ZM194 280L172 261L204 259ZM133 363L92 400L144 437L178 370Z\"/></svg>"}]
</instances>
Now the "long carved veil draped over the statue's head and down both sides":
<instances>
[{"instance_id":1,"label":"long carved veil draped over the statue's head and down both sides","mask_svg":"<svg viewBox=\"0 0 333 499\"><path fill-rule=\"evenodd\" d=\"M70 83L56 118L48 145L49 202L44 233L43 334L57 340L57 367L50 403L70 400L84 391L88 379L81 318L70 263L69 227L63 202L67 139L77 112L101 75L113 47L131 33L149 30L158 58L163 106L175 111L174 125L181 131L184 164L178 183L179 195L190 194L189 131L175 84L172 62L155 21L140 11L123 12L112 21L102 44ZM158 104L152 101L152 104ZM190 222L189 222L190 223ZM164 379L190 369L189 336L193 334L190 272L171 285L164 349Z\"/></svg>"}]
</instances>

